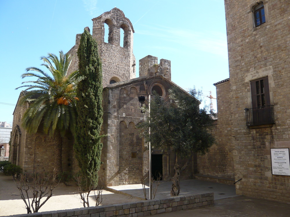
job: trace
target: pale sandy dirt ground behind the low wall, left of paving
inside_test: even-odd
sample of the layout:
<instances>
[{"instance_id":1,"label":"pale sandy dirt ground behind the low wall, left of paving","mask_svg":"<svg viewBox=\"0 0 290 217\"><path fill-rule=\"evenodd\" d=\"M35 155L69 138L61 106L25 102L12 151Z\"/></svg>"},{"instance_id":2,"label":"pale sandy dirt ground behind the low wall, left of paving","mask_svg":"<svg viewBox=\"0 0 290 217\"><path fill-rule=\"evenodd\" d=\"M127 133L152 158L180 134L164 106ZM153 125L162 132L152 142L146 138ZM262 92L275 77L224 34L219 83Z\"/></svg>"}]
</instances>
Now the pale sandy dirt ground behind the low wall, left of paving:
<instances>
[{"instance_id":1,"label":"pale sandy dirt ground behind the low wall, left of paving","mask_svg":"<svg viewBox=\"0 0 290 217\"><path fill-rule=\"evenodd\" d=\"M0 172L0 216L8 216L15 214L26 214L26 208L20 197L19 190L12 176L5 176ZM53 190L53 196L40 208L39 212L81 208L80 196L76 185L66 186L59 183L57 188ZM94 194L91 192L89 201L91 206L95 206ZM138 199L122 194L113 194L103 191L103 201L101 205L111 205L119 203L135 202Z\"/></svg>"}]
</instances>

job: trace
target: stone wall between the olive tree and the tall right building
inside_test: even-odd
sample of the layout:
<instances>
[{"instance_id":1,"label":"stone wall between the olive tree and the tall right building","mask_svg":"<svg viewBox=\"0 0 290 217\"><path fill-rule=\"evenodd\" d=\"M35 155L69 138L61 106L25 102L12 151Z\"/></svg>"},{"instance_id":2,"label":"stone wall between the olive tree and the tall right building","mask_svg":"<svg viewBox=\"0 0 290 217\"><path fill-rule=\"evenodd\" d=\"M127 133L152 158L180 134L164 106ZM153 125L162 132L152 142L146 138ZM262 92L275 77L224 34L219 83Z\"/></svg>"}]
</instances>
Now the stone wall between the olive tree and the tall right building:
<instances>
[{"instance_id":1,"label":"stone wall between the olive tree and the tall right building","mask_svg":"<svg viewBox=\"0 0 290 217\"><path fill-rule=\"evenodd\" d=\"M229 79L215 84L218 119L214 123L212 133L215 135L216 144L205 155L197 156L197 174L194 176L195 179L225 184L234 183L229 85Z\"/></svg>"}]
</instances>

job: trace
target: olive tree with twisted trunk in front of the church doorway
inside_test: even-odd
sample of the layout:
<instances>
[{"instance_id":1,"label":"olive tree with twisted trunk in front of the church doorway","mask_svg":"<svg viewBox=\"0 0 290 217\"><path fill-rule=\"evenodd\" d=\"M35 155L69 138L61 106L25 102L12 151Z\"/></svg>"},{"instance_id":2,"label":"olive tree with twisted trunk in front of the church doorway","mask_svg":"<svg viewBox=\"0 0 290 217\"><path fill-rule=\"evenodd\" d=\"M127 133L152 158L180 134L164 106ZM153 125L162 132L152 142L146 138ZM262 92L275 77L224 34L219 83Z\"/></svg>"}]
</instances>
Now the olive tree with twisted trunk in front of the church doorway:
<instances>
[{"instance_id":1,"label":"olive tree with twisted trunk in front of the church doorway","mask_svg":"<svg viewBox=\"0 0 290 217\"><path fill-rule=\"evenodd\" d=\"M199 108L201 92L190 89L189 94L173 87L169 90L169 105L161 97L151 100L151 109L143 108L147 118L138 125L146 142L151 141L153 149L168 150L175 153L175 174L171 196L180 192L180 174L186 168L192 154L205 154L214 144L215 139L210 132L213 114L206 108ZM150 133L149 133L150 127ZM179 159L187 159L180 165Z\"/></svg>"}]
</instances>

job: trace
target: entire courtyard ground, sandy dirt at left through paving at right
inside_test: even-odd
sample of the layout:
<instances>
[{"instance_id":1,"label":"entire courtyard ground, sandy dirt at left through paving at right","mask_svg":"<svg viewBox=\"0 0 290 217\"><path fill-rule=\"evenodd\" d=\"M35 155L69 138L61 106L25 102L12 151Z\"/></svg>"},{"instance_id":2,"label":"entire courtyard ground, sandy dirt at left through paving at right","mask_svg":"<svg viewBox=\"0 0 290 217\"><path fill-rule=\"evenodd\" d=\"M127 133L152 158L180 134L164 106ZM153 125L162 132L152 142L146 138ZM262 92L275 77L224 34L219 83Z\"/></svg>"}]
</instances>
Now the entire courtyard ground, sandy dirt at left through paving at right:
<instances>
[{"instance_id":1,"label":"entire courtyard ground, sandy dirt at left through paving at right","mask_svg":"<svg viewBox=\"0 0 290 217\"><path fill-rule=\"evenodd\" d=\"M12 214L24 214L26 209L23 201L20 199L16 184L11 176L4 176L0 172L0 216ZM265 199L248 198L235 195L234 185L225 185L220 183L212 183L200 180L183 180L180 182L180 196L188 194L202 194L214 192L215 204L210 207L200 209L177 211L172 213L158 214L157 217L171 216L198 216L198 217L278 217L290 216L290 205L269 201ZM122 192L122 194L113 194L104 191L102 205L110 205L116 203L129 203L139 201L144 198L142 185L121 185L110 187ZM154 185L153 185L154 188ZM157 189L155 199L170 197L171 182L162 182ZM146 187L147 198L149 195L148 186ZM132 196L130 196L132 195ZM139 199L137 198L139 197ZM94 200L90 198L91 205ZM76 186L60 185L54 192L52 198L40 209L41 212L73 209L82 207Z\"/></svg>"}]
</instances>

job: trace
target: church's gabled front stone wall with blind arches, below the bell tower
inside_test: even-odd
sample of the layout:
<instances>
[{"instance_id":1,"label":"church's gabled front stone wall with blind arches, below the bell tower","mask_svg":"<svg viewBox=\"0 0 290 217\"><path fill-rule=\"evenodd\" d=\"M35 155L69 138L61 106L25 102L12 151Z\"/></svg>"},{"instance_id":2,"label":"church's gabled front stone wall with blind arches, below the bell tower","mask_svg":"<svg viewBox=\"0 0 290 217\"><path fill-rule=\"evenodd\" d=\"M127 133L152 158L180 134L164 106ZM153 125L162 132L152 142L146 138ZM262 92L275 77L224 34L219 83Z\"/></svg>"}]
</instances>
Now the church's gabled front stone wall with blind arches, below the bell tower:
<instances>
[{"instance_id":1,"label":"church's gabled front stone wall with blind arches, below the bell tower","mask_svg":"<svg viewBox=\"0 0 290 217\"><path fill-rule=\"evenodd\" d=\"M140 183L140 178L148 172L148 149L136 129L145 118L138 96L145 96L144 103L148 104L148 94L152 94L156 85L161 87L162 97L168 101L168 89L172 84L163 76L110 84L103 91L104 104L108 104L104 106L103 129L107 137L103 140L102 159L108 186ZM170 180L174 175L174 153L170 150L153 152L162 155L162 180ZM185 162L186 159L180 163ZM193 178L191 161L182 178Z\"/></svg>"}]
</instances>

